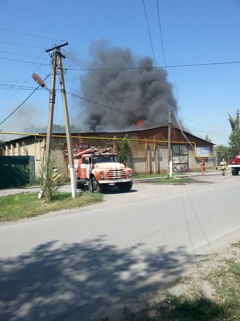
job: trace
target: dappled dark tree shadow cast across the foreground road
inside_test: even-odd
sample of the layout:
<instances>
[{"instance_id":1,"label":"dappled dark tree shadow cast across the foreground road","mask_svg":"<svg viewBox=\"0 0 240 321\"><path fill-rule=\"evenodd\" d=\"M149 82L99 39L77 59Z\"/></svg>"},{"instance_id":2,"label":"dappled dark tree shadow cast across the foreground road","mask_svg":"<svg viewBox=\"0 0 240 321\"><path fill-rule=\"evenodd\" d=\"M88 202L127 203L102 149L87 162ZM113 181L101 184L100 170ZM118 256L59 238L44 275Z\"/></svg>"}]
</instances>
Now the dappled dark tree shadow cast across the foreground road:
<instances>
[{"instance_id":1,"label":"dappled dark tree shadow cast across the foreground road","mask_svg":"<svg viewBox=\"0 0 240 321\"><path fill-rule=\"evenodd\" d=\"M168 284L186 264L204 258L184 247L150 252L141 243L111 246L106 235L82 243L44 243L0 260L0 320L98 319L108 307L122 307L142 292Z\"/></svg>"}]
</instances>

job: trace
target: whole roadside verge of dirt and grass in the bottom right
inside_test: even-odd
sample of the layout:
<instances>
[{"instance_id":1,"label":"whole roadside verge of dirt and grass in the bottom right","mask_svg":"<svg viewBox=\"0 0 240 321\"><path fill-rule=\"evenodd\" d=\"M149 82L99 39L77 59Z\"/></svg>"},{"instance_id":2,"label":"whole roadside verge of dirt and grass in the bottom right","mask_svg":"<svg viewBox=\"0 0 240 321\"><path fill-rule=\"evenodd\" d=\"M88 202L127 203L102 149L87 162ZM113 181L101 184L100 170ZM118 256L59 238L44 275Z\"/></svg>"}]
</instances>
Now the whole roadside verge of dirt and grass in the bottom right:
<instances>
[{"instance_id":1,"label":"whole roadside verge of dirt and grass in the bottom right","mask_svg":"<svg viewBox=\"0 0 240 321\"><path fill-rule=\"evenodd\" d=\"M240 320L240 242L101 321Z\"/></svg>"}]
</instances>

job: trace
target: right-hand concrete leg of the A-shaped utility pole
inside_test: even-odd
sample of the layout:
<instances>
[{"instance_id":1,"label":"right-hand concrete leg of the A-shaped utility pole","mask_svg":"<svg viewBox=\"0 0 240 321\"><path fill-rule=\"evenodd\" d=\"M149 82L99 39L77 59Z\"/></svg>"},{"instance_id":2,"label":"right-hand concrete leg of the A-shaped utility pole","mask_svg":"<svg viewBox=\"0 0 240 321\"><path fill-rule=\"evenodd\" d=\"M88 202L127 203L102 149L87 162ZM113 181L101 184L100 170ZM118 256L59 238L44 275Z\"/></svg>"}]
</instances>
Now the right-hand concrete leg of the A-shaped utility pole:
<instances>
[{"instance_id":1,"label":"right-hand concrete leg of the A-shaped utility pole","mask_svg":"<svg viewBox=\"0 0 240 321\"><path fill-rule=\"evenodd\" d=\"M73 159L73 147L72 147L72 137L71 137L71 130L70 130L70 123L69 123L69 116L68 116L68 103L67 103L67 96L65 90L65 83L64 83L64 76L63 76L63 68L62 68L62 56L60 53L60 48L56 48L57 60L58 60L58 72L59 72L59 80L60 80L60 88L62 94L62 106L63 106L63 114L64 114L64 121L65 121L65 128L66 128L66 136L67 136L67 144L68 144L68 158L69 158L69 171L70 171L70 179L71 179L71 187L72 187L72 197L77 197L77 190L76 190L76 177L75 177L75 168L74 168L74 159Z\"/></svg>"}]
</instances>

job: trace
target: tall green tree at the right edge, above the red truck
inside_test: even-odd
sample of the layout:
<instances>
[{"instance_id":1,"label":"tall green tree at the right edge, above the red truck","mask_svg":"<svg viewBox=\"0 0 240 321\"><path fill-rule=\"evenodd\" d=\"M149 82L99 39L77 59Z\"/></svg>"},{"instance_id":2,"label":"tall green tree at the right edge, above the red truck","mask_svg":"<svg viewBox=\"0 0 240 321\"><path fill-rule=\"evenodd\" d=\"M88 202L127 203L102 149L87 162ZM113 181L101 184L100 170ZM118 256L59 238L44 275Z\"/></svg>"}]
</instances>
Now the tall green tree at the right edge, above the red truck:
<instances>
[{"instance_id":1,"label":"tall green tree at the right edge, above the red truck","mask_svg":"<svg viewBox=\"0 0 240 321\"><path fill-rule=\"evenodd\" d=\"M229 136L228 144L229 151L232 155L237 155L240 150L240 117L239 109L237 109L236 116L233 117L228 114L228 120L230 122L232 132Z\"/></svg>"}]
</instances>

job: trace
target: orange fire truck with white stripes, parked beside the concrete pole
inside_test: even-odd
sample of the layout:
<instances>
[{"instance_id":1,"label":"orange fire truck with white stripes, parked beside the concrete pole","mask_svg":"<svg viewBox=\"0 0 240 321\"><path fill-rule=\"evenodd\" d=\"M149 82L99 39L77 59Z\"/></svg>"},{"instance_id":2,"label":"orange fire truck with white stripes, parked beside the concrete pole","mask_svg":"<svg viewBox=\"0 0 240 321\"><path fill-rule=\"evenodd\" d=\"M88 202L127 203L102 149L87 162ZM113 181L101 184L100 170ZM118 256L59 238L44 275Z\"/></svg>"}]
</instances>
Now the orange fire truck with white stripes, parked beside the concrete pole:
<instances>
[{"instance_id":1,"label":"orange fire truck with white stripes, parked beside the concrete pole","mask_svg":"<svg viewBox=\"0 0 240 321\"><path fill-rule=\"evenodd\" d=\"M91 147L75 154L74 168L77 188L88 184L88 190L92 193L101 193L107 185L117 186L122 192L128 192L132 188L132 169L119 163L118 155L113 153L112 147Z\"/></svg>"}]
</instances>

